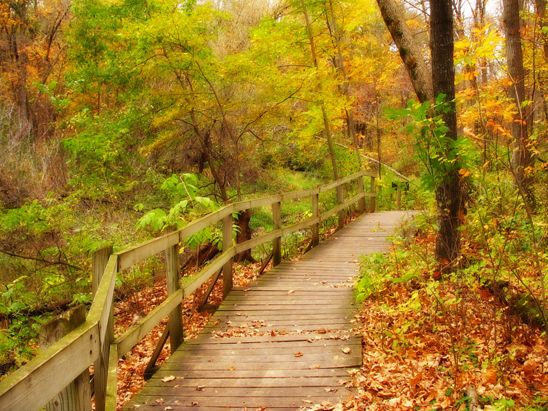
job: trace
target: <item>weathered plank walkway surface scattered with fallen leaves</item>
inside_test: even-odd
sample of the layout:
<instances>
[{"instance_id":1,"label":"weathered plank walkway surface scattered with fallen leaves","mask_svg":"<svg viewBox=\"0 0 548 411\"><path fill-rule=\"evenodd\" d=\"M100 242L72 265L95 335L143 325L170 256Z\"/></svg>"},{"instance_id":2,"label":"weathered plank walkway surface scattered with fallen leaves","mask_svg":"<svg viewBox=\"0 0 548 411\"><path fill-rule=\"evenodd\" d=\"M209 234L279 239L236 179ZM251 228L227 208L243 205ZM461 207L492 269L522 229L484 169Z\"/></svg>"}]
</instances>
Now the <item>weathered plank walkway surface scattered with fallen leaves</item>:
<instances>
[{"instance_id":1,"label":"weathered plank walkway surface scattered with fallen leaves","mask_svg":"<svg viewBox=\"0 0 548 411\"><path fill-rule=\"evenodd\" d=\"M234 288L126 409L281 411L353 395L344 382L362 364L351 322L358 262L386 251L386 237L411 214L362 214L299 260Z\"/></svg>"}]
</instances>

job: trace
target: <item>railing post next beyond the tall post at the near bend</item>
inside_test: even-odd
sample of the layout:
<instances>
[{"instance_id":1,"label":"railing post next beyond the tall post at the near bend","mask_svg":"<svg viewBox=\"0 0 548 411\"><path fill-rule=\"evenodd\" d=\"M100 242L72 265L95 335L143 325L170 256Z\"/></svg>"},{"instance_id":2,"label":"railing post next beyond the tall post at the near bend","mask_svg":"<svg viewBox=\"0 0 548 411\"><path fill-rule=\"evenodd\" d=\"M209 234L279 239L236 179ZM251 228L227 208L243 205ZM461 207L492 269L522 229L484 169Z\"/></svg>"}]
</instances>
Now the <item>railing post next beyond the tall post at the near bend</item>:
<instances>
[{"instance_id":1,"label":"railing post next beyond the tall post at the near bend","mask_svg":"<svg viewBox=\"0 0 548 411\"><path fill-rule=\"evenodd\" d=\"M175 225L166 227L165 234L174 232L177 229ZM179 244L166 248L166 287L167 295L181 288L181 275L179 271ZM169 313L169 345L173 354L183 340L183 308L179 305Z\"/></svg>"}]
</instances>

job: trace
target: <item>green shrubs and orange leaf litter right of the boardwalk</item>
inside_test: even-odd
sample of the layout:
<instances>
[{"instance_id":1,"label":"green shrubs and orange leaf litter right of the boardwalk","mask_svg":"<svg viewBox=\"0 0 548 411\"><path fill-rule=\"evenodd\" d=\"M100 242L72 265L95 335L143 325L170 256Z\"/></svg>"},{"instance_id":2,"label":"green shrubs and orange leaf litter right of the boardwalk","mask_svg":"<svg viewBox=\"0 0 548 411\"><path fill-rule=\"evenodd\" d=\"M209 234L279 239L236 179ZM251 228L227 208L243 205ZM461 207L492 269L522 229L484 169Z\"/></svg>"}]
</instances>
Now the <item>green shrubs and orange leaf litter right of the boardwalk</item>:
<instances>
[{"instance_id":1,"label":"green shrubs and orange leaf litter right of the boardwalk","mask_svg":"<svg viewBox=\"0 0 548 411\"><path fill-rule=\"evenodd\" d=\"M349 409L463 411L471 393L486 410L547 409L545 278L521 210L478 195L450 273L434 259L429 214L414 219L414 238L395 236L390 253L362 258L364 367L353 377L359 395Z\"/></svg>"}]
</instances>

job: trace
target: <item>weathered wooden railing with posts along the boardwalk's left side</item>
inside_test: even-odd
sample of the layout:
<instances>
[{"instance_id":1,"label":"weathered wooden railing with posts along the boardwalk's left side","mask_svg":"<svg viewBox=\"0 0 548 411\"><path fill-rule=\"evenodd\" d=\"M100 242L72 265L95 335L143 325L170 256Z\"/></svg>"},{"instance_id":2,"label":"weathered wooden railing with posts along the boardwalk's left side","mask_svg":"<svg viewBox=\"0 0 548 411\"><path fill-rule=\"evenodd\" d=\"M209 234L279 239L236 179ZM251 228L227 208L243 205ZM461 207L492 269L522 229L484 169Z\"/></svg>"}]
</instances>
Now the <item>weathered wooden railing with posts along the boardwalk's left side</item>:
<instances>
[{"instance_id":1,"label":"weathered wooden railing with posts along the boardwalk's left side","mask_svg":"<svg viewBox=\"0 0 548 411\"><path fill-rule=\"evenodd\" d=\"M364 191L363 177L371 177L371 191ZM327 190L340 190L344 184L357 181L356 195L347 201L340 201L334 208L319 212L319 195ZM305 221L281 226L282 201L312 197L312 216ZM169 232L140 245L112 253L112 247L101 249L92 258L94 297L86 321L64 336L58 343L51 345L28 364L0 382L0 411L34 411L43 408L46 403L59 397L66 386L75 381L82 373L87 373L94 364L95 408L116 410L116 370L118 360L136 345L147 333L169 317L169 337L171 351L182 342L182 301L199 286L214 276L219 278L223 271L223 296L232 288L232 258L236 254L273 242L273 261L282 260L281 239L285 234L312 227L312 245L319 243L319 224L334 214L339 216L339 227L344 224L341 218L344 209L358 203L358 211L365 210L365 197L371 197L369 211L375 211L375 173L360 172L338 179L325 186L296 192L273 195L249 201L232 203L215 212L193 221L182 229ZM338 198L342 198L338 196ZM273 231L251 240L234 245L232 240L232 214L261 206L272 206ZM206 227L222 221L223 252L210 262L200 273L184 286L179 278L179 243L200 232ZM125 334L114 339L113 296L116 275L151 256L165 252L168 297L152 310L144 319L138 321ZM79 381L82 381L80 378ZM71 389L63 395L62 401L69 403L67 409L90 410L89 387ZM87 395L87 398L86 398ZM67 398L68 397L68 398Z\"/></svg>"}]
</instances>

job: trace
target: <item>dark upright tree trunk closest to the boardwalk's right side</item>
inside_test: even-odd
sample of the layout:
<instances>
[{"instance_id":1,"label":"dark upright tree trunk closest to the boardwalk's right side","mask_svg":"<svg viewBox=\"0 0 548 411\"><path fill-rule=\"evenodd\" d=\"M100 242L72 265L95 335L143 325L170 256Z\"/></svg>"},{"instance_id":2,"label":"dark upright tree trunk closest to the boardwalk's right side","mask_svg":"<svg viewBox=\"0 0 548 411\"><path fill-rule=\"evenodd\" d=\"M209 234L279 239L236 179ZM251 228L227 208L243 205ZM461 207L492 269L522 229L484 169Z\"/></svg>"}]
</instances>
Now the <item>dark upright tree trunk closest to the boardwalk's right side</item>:
<instances>
[{"instance_id":1,"label":"dark upright tree trunk closest to the boardwalk's right side","mask_svg":"<svg viewBox=\"0 0 548 411\"><path fill-rule=\"evenodd\" d=\"M430 38L432 48L432 86L434 95L443 93L451 110L443 114L449 138L457 138L455 99L455 69L453 66L453 10L451 0L430 2ZM451 264L460 252L460 217L464 215L464 190L457 169L450 169L436 187L440 231L436 238L436 257Z\"/></svg>"}]
</instances>

